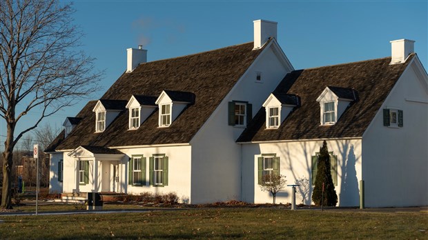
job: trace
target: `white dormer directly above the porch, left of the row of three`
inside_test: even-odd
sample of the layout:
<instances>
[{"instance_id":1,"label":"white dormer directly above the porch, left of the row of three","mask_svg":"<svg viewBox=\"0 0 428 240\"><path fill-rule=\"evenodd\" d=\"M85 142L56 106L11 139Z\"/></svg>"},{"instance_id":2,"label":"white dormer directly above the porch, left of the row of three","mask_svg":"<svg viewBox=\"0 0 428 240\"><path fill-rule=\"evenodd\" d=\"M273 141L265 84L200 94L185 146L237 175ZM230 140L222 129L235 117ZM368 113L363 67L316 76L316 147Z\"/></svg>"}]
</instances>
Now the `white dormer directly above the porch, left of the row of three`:
<instances>
[{"instance_id":1,"label":"white dormer directly above the porch, left of the row of three","mask_svg":"<svg viewBox=\"0 0 428 240\"><path fill-rule=\"evenodd\" d=\"M93 112L95 112L95 132L104 132L117 115L125 110L127 101L100 99Z\"/></svg>"}]
</instances>

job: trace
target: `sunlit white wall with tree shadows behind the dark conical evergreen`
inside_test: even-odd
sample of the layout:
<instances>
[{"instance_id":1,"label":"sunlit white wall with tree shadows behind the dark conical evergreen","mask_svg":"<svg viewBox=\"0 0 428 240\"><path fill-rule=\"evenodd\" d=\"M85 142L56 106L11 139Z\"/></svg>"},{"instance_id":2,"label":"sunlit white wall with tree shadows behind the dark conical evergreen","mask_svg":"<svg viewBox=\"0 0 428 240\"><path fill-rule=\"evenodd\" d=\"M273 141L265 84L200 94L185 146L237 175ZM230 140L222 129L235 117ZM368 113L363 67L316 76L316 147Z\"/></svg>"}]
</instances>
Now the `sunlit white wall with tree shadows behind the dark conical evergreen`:
<instances>
[{"instance_id":1,"label":"sunlit white wall with tree shadows behind the dark conical evergreen","mask_svg":"<svg viewBox=\"0 0 428 240\"><path fill-rule=\"evenodd\" d=\"M275 131L275 130L267 130ZM295 184L296 179L309 180L309 186L297 188L296 203L311 204L313 191L312 160L315 152L320 152L322 140L288 141L277 143L242 144L242 201L251 203L272 203L272 195L263 192L258 185L258 157L262 154L276 154L280 157L280 174L286 176L286 184ZM360 139L328 140L329 152L338 156L338 206L359 206L359 181L361 179ZM305 191L306 190L306 191ZM302 196L302 192L307 192ZM291 187L278 192L276 203L291 203Z\"/></svg>"}]
</instances>

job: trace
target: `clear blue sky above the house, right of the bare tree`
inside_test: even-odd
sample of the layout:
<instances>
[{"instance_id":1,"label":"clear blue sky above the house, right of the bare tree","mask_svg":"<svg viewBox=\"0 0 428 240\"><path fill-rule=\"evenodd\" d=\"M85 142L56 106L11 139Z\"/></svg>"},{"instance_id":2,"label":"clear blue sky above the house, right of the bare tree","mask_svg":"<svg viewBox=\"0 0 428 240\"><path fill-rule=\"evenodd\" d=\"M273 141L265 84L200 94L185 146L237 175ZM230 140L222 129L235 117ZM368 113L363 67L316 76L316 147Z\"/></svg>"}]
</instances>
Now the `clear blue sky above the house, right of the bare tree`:
<instances>
[{"instance_id":1,"label":"clear blue sky above the house, right of the bare tree","mask_svg":"<svg viewBox=\"0 0 428 240\"><path fill-rule=\"evenodd\" d=\"M278 42L295 69L389 57L389 41L404 38L416 41L427 69L426 0L74 1L73 6L75 23L86 34L82 48L106 72L90 99L99 99L124 72L126 48L142 44L148 61L155 61L246 43L253 41L255 19L278 22ZM87 101L44 123L61 128ZM26 121L17 130L28 126Z\"/></svg>"}]
</instances>

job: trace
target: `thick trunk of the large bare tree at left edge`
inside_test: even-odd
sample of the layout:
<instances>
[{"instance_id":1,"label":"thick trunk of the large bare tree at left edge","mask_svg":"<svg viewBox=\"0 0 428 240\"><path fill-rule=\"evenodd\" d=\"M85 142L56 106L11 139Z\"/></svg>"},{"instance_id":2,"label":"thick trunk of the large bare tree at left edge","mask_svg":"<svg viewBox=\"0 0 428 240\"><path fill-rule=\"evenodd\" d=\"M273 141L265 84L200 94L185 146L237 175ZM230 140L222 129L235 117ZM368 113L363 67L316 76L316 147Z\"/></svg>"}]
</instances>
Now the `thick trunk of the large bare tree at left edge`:
<instances>
[{"instance_id":1,"label":"thick trunk of the large bare tree at left edge","mask_svg":"<svg viewBox=\"0 0 428 240\"><path fill-rule=\"evenodd\" d=\"M3 152L3 190L1 192L1 209L12 209L12 165L13 165L13 132L14 125L8 123L8 133Z\"/></svg>"}]
</instances>

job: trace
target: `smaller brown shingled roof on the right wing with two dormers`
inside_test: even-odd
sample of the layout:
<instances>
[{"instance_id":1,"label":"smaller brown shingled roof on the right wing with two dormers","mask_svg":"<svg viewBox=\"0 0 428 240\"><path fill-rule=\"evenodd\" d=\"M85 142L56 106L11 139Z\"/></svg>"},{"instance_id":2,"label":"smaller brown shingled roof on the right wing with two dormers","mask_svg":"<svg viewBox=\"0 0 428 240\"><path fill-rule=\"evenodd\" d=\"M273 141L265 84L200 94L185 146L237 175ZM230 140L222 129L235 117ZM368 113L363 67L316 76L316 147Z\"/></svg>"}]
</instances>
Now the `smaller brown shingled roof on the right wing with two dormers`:
<instances>
[{"instance_id":1,"label":"smaller brown shingled roof on the right wing with two dormers","mask_svg":"<svg viewBox=\"0 0 428 240\"><path fill-rule=\"evenodd\" d=\"M275 93L298 94L300 108L295 108L275 130L266 130L266 113L261 108L237 142L362 137L413 57L414 54L405 63L395 65L389 65L391 57L387 57L290 72ZM333 87L337 94L347 98L351 96L349 90L356 90L359 99L337 123L320 126L320 103L316 99L327 86L337 86Z\"/></svg>"}]
</instances>

